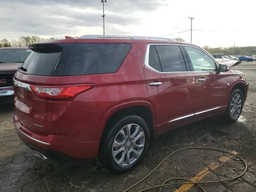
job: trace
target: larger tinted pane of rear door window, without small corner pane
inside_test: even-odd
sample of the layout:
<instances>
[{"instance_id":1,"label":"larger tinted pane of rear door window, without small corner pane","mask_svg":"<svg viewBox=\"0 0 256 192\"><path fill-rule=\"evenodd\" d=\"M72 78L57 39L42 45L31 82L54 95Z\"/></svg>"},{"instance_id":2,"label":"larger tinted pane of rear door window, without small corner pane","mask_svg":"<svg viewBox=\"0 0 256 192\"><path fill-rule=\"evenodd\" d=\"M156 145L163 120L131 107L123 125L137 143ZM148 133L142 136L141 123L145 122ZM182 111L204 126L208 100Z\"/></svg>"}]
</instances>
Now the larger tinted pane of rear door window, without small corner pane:
<instances>
[{"instance_id":1,"label":"larger tinted pane of rear door window, without small corner pane","mask_svg":"<svg viewBox=\"0 0 256 192\"><path fill-rule=\"evenodd\" d=\"M182 52L178 45L156 45L163 72L186 71Z\"/></svg>"}]
</instances>

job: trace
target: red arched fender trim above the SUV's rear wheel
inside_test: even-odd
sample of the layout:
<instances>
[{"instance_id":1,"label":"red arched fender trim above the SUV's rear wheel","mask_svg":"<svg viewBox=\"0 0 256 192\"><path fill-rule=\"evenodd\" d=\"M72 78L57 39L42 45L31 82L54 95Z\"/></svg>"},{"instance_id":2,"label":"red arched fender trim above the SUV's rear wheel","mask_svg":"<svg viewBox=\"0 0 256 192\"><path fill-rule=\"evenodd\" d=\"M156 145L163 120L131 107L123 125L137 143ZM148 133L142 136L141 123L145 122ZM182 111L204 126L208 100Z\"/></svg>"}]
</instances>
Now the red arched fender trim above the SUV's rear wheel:
<instances>
[{"instance_id":1,"label":"red arched fender trim above the SUV's rear wheel","mask_svg":"<svg viewBox=\"0 0 256 192\"><path fill-rule=\"evenodd\" d=\"M108 119L110 118L110 116L112 116L112 114L114 114L116 111L124 109L124 108L128 108L128 107L134 107L134 106L146 106L150 109L150 112L152 113L152 117L153 117L153 126L154 126L154 132L156 132L156 115L155 115L155 111L153 106L151 105L150 102L148 101L144 101L144 100L137 100L137 101L129 101L129 102L124 102L121 104L118 104L114 107L112 107L110 110L108 110L108 112L105 114L101 124L100 124L100 128L101 130L104 129ZM102 131L103 133L103 131Z\"/></svg>"}]
</instances>

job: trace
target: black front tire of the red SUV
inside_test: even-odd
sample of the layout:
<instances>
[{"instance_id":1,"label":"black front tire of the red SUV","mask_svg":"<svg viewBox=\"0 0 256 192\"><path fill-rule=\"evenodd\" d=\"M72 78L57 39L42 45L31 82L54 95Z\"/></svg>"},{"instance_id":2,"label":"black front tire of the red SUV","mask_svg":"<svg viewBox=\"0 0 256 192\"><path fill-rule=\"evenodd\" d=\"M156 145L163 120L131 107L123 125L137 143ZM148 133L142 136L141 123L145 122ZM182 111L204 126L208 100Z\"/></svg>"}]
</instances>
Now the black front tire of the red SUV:
<instances>
[{"instance_id":1,"label":"black front tire of the red SUV","mask_svg":"<svg viewBox=\"0 0 256 192\"><path fill-rule=\"evenodd\" d=\"M234 98L234 96L236 96L237 94L240 95L241 98L241 108L240 111L237 113L236 117L232 116L231 111L233 108L233 104L232 104L232 100ZM231 108L232 105L232 108ZM228 101L228 106L226 108L226 112L224 114L224 120L226 120L227 122L236 122L236 120L238 120L240 114L242 113L243 110L243 106L244 106L244 96L243 93L240 89L235 89L232 94L230 95L229 101ZM237 110L236 110L237 112Z\"/></svg>"}]
</instances>

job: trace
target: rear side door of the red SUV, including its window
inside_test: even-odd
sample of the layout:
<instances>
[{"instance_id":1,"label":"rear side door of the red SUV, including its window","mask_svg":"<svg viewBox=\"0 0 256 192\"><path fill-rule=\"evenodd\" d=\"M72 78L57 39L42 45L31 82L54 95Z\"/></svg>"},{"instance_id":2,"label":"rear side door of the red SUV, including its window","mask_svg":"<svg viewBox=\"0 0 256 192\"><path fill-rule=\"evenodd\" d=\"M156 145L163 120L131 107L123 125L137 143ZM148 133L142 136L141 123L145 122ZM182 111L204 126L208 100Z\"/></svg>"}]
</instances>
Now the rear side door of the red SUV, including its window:
<instances>
[{"instance_id":1,"label":"rear side door of the red SUV, including its window","mask_svg":"<svg viewBox=\"0 0 256 192\"><path fill-rule=\"evenodd\" d=\"M148 44L144 75L157 132L189 122L196 107L196 77L176 44Z\"/></svg>"}]
</instances>

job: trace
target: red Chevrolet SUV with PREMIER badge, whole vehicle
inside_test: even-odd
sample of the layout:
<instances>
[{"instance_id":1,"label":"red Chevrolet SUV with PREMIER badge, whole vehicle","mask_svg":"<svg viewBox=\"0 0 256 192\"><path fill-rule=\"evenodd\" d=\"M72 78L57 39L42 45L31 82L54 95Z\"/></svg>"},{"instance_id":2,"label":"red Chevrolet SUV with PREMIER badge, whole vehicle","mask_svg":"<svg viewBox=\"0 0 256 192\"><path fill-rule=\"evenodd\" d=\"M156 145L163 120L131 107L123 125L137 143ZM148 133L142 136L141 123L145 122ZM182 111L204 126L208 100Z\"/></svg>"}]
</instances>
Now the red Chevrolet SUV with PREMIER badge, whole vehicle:
<instances>
[{"instance_id":1,"label":"red Chevrolet SUV with PREMIER badge, whole vehicle","mask_svg":"<svg viewBox=\"0 0 256 192\"><path fill-rule=\"evenodd\" d=\"M82 36L32 44L14 76L14 124L41 158L95 158L133 168L150 140L246 100L242 72L171 39Z\"/></svg>"}]
</instances>

